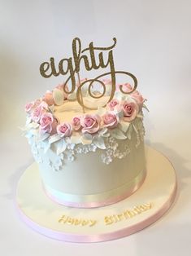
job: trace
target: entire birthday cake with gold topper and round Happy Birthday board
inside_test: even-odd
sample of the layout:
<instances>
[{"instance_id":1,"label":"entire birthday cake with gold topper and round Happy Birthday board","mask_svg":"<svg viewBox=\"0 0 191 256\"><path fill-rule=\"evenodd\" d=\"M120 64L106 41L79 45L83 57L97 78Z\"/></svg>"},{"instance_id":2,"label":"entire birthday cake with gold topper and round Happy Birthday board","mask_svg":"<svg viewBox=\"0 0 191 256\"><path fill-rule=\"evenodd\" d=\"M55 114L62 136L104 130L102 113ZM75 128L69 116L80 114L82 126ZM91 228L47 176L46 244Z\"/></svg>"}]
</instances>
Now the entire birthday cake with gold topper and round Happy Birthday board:
<instances>
[{"instance_id":1,"label":"entire birthday cake with gold topper and round Happy Birthday board","mask_svg":"<svg viewBox=\"0 0 191 256\"><path fill-rule=\"evenodd\" d=\"M113 41L82 49L74 38L72 57L40 65L42 77L64 82L25 106L35 162L20 178L16 201L24 222L54 239L131 235L160 218L176 195L170 161L145 146L146 99L132 73L115 70ZM93 77L80 79L81 68ZM109 70L96 74L102 68Z\"/></svg>"}]
</instances>

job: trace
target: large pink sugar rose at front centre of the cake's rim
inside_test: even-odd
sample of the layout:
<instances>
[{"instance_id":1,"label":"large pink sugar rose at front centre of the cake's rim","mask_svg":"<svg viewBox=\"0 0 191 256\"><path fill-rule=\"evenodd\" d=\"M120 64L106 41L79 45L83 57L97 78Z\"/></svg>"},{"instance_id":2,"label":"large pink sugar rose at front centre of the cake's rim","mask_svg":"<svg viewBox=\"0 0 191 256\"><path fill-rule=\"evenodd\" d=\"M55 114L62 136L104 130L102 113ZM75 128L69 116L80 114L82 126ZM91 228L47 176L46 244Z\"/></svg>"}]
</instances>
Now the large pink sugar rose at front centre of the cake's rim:
<instances>
[{"instance_id":1,"label":"large pink sugar rose at front centre of the cake's rim","mask_svg":"<svg viewBox=\"0 0 191 256\"><path fill-rule=\"evenodd\" d=\"M94 134L100 128L101 118L98 115L86 114L80 118L80 125L83 127L83 133Z\"/></svg>"}]
</instances>

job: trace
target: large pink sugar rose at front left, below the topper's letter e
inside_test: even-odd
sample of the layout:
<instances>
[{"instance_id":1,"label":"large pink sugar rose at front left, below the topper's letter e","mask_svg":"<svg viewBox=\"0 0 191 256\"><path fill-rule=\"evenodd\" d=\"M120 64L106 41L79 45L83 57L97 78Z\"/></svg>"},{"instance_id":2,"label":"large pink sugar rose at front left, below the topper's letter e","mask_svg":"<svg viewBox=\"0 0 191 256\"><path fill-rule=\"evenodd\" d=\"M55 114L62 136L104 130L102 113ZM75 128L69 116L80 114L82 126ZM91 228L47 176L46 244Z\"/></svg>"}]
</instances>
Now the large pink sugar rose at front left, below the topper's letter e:
<instances>
[{"instance_id":1,"label":"large pink sugar rose at front left, below the topper's letter e","mask_svg":"<svg viewBox=\"0 0 191 256\"><path fill-rule=\"evenodd\" d=\"M56 127L58 121L53 117L51 113L44 113L40 119L40 131L42 134L49 133L54 135L56 133Z\"/></svg>"}]
</instances>

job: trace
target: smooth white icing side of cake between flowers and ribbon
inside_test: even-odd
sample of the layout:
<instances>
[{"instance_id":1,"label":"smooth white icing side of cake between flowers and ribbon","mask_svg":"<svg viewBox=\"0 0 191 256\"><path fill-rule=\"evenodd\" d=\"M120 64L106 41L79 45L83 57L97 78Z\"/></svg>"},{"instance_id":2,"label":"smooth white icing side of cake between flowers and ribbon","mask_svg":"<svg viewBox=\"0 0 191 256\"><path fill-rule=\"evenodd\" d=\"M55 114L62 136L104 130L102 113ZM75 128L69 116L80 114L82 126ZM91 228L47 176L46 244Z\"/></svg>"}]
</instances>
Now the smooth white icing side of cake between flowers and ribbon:
<instances>
[{"instance_id":1,"label":"smooth white icing side of cake between flowers and ribbon","mask_svg":"<svg viewBox=\"0 0 191 256\"><path fill-rule=\"evenodd\" d=\"M124 140L119 140L119 147ZM60 170L50 166L54 149L46 154L41 150L42 162L39 163L43 183L59 192L76 195L89 195L107 192L130 182L145 170L144 142L135 147L135 138L129 143L130 152L123 159L115 158L109 165L100 159L101 149L96 152L77 155L75 161L64 161Z\"/></svg>"}]
</instances>

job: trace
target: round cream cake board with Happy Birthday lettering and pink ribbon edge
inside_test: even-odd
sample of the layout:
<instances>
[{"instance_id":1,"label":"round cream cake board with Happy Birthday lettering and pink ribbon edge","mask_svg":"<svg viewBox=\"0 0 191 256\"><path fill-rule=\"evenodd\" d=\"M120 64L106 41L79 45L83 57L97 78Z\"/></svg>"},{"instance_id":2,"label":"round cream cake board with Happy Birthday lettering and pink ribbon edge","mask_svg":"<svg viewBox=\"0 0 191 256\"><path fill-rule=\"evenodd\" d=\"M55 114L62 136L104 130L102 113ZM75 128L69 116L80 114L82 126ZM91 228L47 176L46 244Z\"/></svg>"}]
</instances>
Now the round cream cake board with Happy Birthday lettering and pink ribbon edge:
<instances>
[{"instance_id":1,"label":"round cream cake board with Happy Birthday lettering and pink ribbon edge","mask_svg":"<svg viewBox=\"0 0 191 256\"><path fill-rule=\"evenodd\" d=\"M145 147L145 154L147 175L141 188L123 201L93 209L51 201L33 163L17 188L20 217L35 231L61 241L110 241L140 231L160 218L176 195L176 174L171 163L153 148Z\"/></svg>"}]
</instances>

